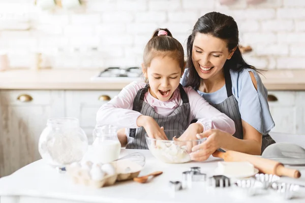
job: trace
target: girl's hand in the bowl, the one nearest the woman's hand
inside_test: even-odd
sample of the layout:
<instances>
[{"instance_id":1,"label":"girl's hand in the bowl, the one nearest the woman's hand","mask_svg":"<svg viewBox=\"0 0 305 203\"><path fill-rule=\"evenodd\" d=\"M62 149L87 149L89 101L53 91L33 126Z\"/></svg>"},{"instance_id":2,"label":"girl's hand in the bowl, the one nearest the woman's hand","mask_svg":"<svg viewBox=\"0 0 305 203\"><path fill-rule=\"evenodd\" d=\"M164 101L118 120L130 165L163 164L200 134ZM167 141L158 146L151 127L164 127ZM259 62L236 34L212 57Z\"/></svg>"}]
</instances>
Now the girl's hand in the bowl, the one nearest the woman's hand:
<instances>
[{"instance_id":1,"label":"girl's hand in the bowl, the one nearest the woman's hand","mask_svg":"<svg viewBox=\"0 0 305 203\"><path fill-rule=\"evenodd\" d=\"M179 137L173 138L174 141L190 141L197 140L196 135L203 131L203 125L201 123L192 123L189 125L187 130ZM178 144L187 145L188 152L192 151L192 147L197 144L197 142L177 142Z\"/></svg>"}]
</instances>

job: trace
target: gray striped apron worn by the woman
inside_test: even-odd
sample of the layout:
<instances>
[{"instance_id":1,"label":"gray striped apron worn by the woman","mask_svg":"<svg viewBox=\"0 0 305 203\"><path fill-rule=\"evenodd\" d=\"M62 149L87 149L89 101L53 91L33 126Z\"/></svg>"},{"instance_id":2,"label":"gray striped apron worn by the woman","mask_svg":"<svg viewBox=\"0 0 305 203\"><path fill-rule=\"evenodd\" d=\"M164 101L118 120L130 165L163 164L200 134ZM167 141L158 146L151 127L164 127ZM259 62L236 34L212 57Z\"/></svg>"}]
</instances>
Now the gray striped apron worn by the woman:
<instances>
[{"instance_id":1,"label":"gray striped apron worn by the woman","mask_svg":"<svg viewBox=\"0 0 305 203\"><path fill-rule=\"evenodd\" d=\"M231 80L230 71L225 72L225 82L226 82L228 98L226 98L220 104L210 104L210 105L218 109L220 112L226 114L229 118L231 118L234 121L235 133L233 134L233 136L238 139L243 139L241 116L239 113L238 102L232 93L232 80ZM268 147L273 143L276 142L269 136L269 134L263 135L261 153L263 153L266 147Z\"/></svg>"}]
</instances>

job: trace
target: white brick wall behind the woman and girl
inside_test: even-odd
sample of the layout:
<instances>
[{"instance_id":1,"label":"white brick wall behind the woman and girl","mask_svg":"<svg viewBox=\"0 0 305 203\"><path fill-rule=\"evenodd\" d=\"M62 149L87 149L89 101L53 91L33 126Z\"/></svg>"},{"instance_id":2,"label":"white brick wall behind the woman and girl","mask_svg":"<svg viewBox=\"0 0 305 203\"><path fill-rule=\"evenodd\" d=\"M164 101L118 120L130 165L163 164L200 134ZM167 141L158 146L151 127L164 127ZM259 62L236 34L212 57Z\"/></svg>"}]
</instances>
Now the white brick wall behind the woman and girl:
<instances>
[{"instance_id":1,"label":"white brick wall behind the woman and girl","mask_svg":"<svg viewBox=\"0 0 305 203\"><path fill-rule=\"evenodd\" d=\"M41 11L32 0L0 0L0 50L11 65L27 66L40 51L54 68L139 66L153 31L168 28L186 47L197 19L207 12L231 15L240 43L253 51L246 61L262 69L305 67L305 1L83 0L81 9Z\"/></svg>"}]
</instances>

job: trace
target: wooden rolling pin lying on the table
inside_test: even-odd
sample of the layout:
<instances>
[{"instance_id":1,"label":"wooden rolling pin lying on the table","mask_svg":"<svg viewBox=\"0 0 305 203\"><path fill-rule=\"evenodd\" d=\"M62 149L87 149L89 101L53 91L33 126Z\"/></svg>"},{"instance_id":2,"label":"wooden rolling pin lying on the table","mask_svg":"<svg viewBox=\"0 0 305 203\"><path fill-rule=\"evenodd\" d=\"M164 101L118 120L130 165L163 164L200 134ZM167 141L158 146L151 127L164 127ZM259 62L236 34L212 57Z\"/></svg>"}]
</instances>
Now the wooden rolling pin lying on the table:
<instances>
[{"instance_id":1,"label":"wooden rolling pin lying on the table","mask_svg":"<svg viewBox=\"0 0 305 203\"><path fill-rule=\"evenodd\" d=\"M278 161L269 160L250 154L245 154L236 151L216 151L213 153L213 156L222 158L225 161L248 161L252 163L254 167L256 167L261 173L264 174L287 176L291 178L299 178L301 176L299 171L292 168L286 168L282 163Z\"/></svg>"}]
</instances>

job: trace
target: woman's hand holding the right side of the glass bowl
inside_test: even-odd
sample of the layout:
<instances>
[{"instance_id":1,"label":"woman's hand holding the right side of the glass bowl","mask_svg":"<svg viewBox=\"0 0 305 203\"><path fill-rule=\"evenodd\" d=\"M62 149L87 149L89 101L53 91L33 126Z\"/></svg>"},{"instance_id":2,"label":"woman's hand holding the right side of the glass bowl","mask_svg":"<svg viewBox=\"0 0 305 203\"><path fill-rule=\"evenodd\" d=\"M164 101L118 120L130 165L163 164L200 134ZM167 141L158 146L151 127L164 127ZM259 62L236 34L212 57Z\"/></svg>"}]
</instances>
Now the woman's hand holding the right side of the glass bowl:
<instances>
[{"instance_id":1,"label":"woman's hand holding the right side of the glass bowl","mask_svg":"<svg viewBox=\"0 0 305 203\"><path fill-rule=\"evenodd\" d=\"M194 161L205 161L216 150L221 148L226 138L231 136L228 132L219 129L209 129L198 134L200 138L207 138L202 144L192 148L191 159Z\"/></svg>"}]
</instances>

